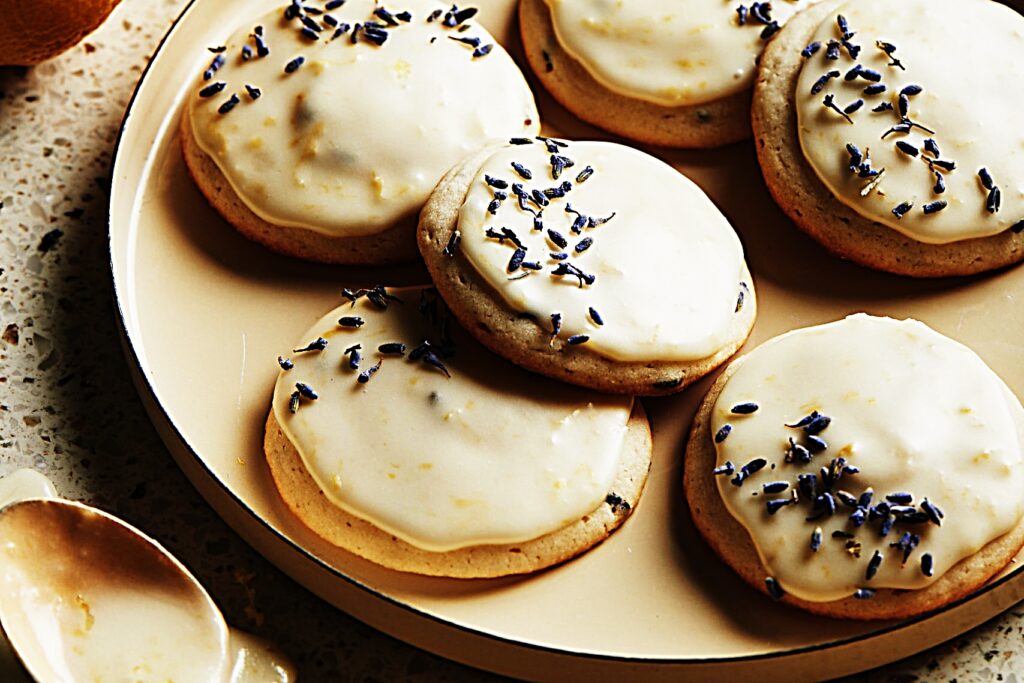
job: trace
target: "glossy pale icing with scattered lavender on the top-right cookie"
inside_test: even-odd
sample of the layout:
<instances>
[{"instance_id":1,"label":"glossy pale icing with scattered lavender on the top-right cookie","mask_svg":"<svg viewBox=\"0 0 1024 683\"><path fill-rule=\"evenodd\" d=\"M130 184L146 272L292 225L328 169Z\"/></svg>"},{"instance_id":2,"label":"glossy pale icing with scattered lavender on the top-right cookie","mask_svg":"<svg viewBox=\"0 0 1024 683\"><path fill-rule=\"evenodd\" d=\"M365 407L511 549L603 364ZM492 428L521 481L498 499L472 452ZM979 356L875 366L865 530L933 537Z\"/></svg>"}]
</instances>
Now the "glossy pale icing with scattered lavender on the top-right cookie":
<instances>
[{"instance_id":1,"label":"glossy pale icing with scattered lavender on the top-right cookie","mask_svg":"<svg viewBox=\"0 0 1024 683\"><path fill-rule=\"evenodd\" d=\"M856 58L838 43L838 15ZM1024 82L1009 56L1024 54L1024 17L989 0L857 0L813 41L796 91L800 142L841 202L930 244L1024 219Z\"/></svg>"}]
</instances>

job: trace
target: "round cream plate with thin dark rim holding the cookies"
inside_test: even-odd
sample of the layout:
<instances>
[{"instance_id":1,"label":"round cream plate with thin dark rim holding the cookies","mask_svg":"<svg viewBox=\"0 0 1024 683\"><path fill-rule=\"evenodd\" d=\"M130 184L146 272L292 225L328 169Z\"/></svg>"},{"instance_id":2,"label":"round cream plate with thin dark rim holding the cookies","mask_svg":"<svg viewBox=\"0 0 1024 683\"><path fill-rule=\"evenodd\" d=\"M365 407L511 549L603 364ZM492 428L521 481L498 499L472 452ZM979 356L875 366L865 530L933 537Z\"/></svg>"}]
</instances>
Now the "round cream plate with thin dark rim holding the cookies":
<instances>
[{"instance_id":1,"label":"round cream plate with thin dark rim holding the cookies","mask_svg":"<svg viewBox=\"0 0 1024 683\"><path fill-rule=\"evenodd\" d=\"M181 468L271 561L382 631L532 679L833 677L929 647L1024 598L1017 568L927 618L853 624L809 616L746 588L696 537L680 493L684 436L707 382L645 403L656 449L647 492L622 530L564 566L524 579L422 579L314 538L286 512L263 462L276 355L339 302L343 286L410 284L425 273L280 257L239 237L193 186L176 130L194 76L210 59L205 48L219 45L239 16L257 15L255 5L278 4L211 0L184 12L130 105L111 198L111 261L139 391ZM484 22L515 46L512 0L484 4ZM603 137L535 90L549 132ZM858 310L909 315L972 346L1024 395L1024 269L948 282L869 272L788 224L750 144L654 153L705 187L739 230L761 305L752 344Z\"/></svg>"}]
</instances>

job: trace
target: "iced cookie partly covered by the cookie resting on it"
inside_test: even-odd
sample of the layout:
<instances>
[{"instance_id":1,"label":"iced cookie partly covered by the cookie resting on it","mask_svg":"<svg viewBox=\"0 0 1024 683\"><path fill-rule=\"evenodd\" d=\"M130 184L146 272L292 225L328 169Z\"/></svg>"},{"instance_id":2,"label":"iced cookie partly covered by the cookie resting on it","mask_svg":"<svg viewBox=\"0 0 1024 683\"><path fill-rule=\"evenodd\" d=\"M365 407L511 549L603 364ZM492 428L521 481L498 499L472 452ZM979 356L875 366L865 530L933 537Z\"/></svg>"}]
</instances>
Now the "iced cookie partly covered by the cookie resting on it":
<instances>
[{"instance_id":1,"label":"iced cookie partly covered by the cookie resting on it","mask_svg":"<svg viewBox=\"0 0 1024 683\"><path fill-rule=\"evenodd\" d=\"M395 294L346 292L280 359L264 449L295 515L386 567L465 579L617 528L650 466L639 401L524 373L449 326L432 290Z\"/></svg>"}]
</instances>

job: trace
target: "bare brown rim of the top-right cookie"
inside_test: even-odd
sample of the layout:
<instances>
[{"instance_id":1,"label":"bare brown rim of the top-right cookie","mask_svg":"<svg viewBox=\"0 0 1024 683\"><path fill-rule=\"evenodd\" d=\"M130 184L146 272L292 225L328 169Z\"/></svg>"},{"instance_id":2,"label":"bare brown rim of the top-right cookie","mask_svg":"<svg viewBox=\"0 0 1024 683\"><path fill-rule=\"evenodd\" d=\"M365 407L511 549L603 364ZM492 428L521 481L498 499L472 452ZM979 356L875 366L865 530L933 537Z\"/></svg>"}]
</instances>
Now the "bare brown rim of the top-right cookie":
<instances>
[{"instance_id":1,"label":"bare brown rim of the top-right cookie","mask_svg":"<svg viewBox=\"0 0 1024 683\"><path fill-rule=\"evenodd\" d=\"M794 16L768 44L754 86L752 123L765 182L802 230L837 256L913 278L969 275L1024 258L1024 233L1012 230L947 245L929 245L868 220L840 202L804 159L794 93L800 51L842 0L826 0Z\"/></svg>"}]
</instances>

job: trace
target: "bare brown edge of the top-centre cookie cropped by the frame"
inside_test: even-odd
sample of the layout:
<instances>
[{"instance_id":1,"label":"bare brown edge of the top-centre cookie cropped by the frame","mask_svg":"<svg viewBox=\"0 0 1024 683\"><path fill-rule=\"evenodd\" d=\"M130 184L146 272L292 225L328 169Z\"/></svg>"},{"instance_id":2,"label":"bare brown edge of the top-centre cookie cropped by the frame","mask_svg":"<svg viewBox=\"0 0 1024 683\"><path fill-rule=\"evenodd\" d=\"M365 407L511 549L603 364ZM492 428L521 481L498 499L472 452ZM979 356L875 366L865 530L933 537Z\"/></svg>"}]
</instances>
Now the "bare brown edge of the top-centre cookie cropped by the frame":
<instances>
[{"instance_id":1,"label":"bare brown edge of the top-centre cookie cropped by the frame","mask_svg":"<svg viewBox=\"0 0 1024 683\"><path fill-rule=\"evenodd\" d=\"M647 144L717 147L751 136L751 91L703 104L663 106L612 92L559 45L544 0L520 0L519 30L534 73L587 123Z\"/></svg>"}]
</instances>

